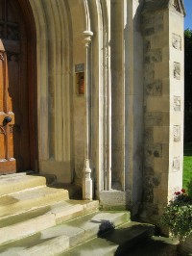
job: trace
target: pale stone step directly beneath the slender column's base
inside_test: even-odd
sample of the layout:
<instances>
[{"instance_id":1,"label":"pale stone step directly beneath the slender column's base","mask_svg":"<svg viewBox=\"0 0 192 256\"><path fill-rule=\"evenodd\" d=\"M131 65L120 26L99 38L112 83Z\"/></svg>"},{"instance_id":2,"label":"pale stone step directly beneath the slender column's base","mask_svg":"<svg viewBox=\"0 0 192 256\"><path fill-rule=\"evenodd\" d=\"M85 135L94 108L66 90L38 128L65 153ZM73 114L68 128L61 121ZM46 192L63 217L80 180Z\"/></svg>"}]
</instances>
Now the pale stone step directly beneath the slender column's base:
<instances>
[{"instance_id":1,"label":"pale stone step directly beneath the slender column's base","mask_svg":"<svg viewBox=\"0 0 192 256\"><path fill-rule=\"evenodd\" d=\"M97 209L97 201L77 203L68 200L68 202L64 201L20 215L2 218L0 221L0 244L31 236L60 222L95 212Z\"/></svg>"}]
</instances>

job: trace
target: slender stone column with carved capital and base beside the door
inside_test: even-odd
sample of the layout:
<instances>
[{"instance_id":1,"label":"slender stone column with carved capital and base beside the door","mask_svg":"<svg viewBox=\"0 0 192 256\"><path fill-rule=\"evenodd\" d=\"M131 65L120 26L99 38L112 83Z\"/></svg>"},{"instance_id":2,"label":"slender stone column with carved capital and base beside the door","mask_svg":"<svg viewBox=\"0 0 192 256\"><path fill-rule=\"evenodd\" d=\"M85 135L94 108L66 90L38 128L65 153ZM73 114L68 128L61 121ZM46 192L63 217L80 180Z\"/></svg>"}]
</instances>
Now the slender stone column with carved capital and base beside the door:
<instances>
[{"instance_id":1,"label":"slender stone column with carved capital and base beside the door","mask_svg":"<svg viewBox=\"0 0 192 256\"><path fill-rule=\"evenodd\" d=\"M84 98L85 98L85 113L84 113L84 177L83 177L83 199L92 199L92 179L90 168L90 42L93 33L84 31L85 45L85 72L84 72Z\"/></svg>"}]
</instances>

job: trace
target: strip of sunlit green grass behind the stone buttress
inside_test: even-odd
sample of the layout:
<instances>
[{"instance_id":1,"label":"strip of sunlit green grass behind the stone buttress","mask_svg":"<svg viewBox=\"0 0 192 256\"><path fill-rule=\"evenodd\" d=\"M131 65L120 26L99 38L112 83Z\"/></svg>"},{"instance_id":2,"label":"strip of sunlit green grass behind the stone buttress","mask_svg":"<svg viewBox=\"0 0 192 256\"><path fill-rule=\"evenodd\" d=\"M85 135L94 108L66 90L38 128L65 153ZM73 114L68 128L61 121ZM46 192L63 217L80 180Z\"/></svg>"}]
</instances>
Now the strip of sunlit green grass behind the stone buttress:
<instances>
[{"instance_id":1,"label":"strip of sunlit green grass behind the stone buttress","mask_svg":"<svg viewBox=\"0 0 192 256\"><path fill-rule=\"evenodd\" d=\"M192 142L184 144L182 187L187 190L187 184L192 180Z\"/></svg>"}]
</instances>

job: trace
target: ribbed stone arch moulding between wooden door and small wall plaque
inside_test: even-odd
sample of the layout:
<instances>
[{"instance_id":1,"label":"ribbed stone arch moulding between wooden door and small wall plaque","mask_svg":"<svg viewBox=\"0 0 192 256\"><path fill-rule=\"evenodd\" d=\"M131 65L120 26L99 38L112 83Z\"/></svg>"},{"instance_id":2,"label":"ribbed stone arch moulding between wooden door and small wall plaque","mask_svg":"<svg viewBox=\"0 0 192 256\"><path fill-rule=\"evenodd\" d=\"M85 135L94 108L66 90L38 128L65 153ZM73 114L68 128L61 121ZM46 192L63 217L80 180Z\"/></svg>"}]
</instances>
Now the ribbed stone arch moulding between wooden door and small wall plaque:
<instances>
[{"instance_id":1,"label":"ribbed stone arch moulding between wooden door and small wall plaque","mask_svg":"<svg viewBox=\"0 0 192 256\"><path fill-rule=\"evenodd\" d=\"M36 21L39 172L70 183L74 173L71 10L67 1L29 2Z\"/></svg>"}]
</instances>

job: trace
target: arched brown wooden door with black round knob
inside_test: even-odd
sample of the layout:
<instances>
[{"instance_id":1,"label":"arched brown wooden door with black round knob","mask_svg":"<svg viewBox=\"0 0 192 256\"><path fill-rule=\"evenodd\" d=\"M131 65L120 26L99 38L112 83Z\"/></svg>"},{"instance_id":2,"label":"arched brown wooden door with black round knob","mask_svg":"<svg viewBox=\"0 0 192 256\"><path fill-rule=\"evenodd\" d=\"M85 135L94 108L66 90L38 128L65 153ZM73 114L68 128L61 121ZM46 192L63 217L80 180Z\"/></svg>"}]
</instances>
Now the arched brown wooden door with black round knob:
<instances>
[{"instance_id":1,"label":"arched brown wooden door with black round knob","mask_svg":"<svg viewBox=\"0 0 192 256\"><path fill-rule=\"evenodd\" d=\"M36 161L33 49L19 2L0 0L0 173L33 169Z\"/></svg>"}]
</instances>

